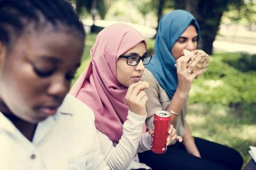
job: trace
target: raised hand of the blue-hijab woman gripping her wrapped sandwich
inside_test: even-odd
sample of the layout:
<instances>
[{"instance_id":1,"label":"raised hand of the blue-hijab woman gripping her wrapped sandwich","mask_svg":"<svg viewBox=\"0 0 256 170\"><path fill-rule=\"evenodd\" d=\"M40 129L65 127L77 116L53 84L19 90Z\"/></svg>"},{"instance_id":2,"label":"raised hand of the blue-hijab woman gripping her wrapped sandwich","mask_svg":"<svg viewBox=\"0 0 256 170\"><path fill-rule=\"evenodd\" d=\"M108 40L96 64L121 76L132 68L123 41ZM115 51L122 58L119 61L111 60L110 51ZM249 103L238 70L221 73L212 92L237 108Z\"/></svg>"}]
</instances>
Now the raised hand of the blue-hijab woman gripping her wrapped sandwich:
<instances>
[{"instance_id":1,"label":"raised hand of the blue-hijab woman gripping her wrapped sandwich","mask_svg":"<svg viewBox=\"0 0 256 170\"><path fill-rule=\"evenodd\" d=\"M178 86L177 91L180 91L183 96L187 96L189 94L191 84L195 77L199 76L203 73L203 71L197 71L191 74L195 65L200 61L201 56L198 55L197 58L187 67L189 59L195 55L194 53L189 53L187 56L182 56L177 59L177 77L178 77Z\"/></svg>"}]
</instances>

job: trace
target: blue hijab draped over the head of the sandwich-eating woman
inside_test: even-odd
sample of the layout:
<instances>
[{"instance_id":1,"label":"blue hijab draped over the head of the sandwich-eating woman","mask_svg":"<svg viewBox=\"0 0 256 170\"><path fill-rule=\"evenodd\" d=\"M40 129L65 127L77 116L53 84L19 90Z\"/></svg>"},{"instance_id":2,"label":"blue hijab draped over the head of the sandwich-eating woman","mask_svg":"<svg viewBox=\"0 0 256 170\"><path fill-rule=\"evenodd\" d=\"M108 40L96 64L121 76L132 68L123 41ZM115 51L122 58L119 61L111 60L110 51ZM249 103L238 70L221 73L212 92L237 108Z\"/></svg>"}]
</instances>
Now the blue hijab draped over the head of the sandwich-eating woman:
<instances>
[{"instance_id":1,"label":"blue hijab draped over the head of the sandwich-eating woman","mask_svg":"<svg viewBox=\"0 0 256 170\"><path fill-rule=\"evenodd\" d=\"M146 65L170 98L175 94L178 84L176 60L171 54L172 47L191 23L196 27L199 42L200 29L192 14L180 9L165 14L158 26L154 43L155 54L150 64Z\"/></svg>"}]
</instances>

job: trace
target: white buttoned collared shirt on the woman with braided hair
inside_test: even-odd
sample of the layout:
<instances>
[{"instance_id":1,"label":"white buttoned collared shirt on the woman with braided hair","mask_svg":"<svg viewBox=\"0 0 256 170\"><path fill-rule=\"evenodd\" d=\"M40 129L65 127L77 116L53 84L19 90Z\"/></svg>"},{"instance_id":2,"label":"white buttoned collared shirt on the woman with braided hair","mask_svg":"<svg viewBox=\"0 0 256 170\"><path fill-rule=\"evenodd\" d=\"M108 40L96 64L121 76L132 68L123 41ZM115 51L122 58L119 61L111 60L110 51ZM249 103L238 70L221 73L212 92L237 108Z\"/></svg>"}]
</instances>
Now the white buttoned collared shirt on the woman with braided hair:
<instances>
[{"instance_id":1,"label":"white buttoned collared shirt on the woman with braided hair","mask_svg":"<svg viewBox=\"0 0 256 170\"><path fill-rule=\"evenodd\" d=\"M0 170L110 170L101 154L93 111L67 94L30 142L0 112Z\"/></svg>"}]
</instances>

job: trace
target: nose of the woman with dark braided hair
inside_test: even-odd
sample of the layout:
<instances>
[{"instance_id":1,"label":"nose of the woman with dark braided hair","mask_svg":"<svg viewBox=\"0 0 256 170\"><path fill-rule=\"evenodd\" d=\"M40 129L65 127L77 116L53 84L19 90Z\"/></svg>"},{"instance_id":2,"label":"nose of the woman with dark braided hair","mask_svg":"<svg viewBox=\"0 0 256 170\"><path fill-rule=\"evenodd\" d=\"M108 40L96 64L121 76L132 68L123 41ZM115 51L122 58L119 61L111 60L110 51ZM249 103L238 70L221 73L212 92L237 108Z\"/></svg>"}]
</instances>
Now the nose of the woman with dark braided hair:
<instances>
[{"instance_id":1,"label":"nose of the woman with dark braided hair","mask_svg":"<svg viewBox=\"0 0 256 170\"><path fill-rule=\"evenodd\" d=\"M66 78L62 75L55 77L52 84L47 89L47 92L51 96L58 98L64 98L69 91L69 83Z\"/></svg>"}]
</instances>

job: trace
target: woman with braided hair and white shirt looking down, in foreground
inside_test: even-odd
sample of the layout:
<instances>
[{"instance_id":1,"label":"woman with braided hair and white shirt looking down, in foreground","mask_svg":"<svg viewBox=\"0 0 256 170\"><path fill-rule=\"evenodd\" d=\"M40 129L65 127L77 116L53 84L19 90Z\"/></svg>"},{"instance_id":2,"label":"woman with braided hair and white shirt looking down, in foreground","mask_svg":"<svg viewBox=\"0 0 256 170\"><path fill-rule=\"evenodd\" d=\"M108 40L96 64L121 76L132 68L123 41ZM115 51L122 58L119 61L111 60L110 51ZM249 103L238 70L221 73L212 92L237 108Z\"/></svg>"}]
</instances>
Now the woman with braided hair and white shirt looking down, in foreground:
<instances>
[{"instance_id":1,"label":"woman with braided hair and white shirt looking down, in foreground","mask_svg":"<svg viewBox=\"0 0 256 170\"><path fill-rule=\"evenodd\" d=\"M65 0L0 0L0 170L109 170L94 114L67 95L85 32Z\"/></svg>"}]
</instances>

